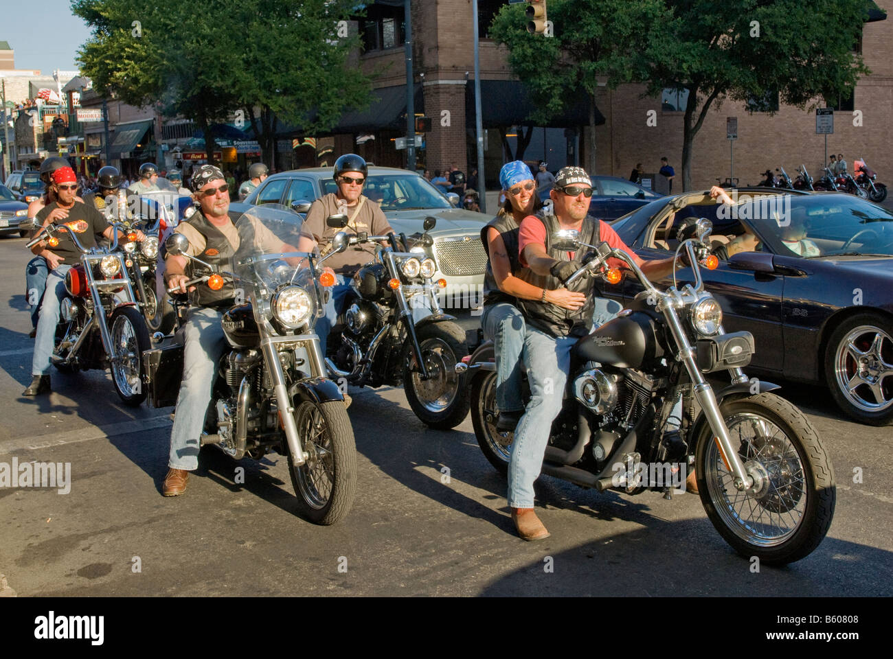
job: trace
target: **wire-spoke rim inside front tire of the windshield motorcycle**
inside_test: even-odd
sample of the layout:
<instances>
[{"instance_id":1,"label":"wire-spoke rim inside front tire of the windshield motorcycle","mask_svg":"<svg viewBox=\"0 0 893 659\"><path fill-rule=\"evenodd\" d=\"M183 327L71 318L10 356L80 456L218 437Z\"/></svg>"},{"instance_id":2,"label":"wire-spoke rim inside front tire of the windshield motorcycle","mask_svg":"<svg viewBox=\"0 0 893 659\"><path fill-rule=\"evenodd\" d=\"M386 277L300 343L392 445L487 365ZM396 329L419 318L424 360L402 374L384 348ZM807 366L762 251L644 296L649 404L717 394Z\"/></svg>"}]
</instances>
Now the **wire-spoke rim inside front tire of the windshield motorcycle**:
<instances>
[{"instance_id":1,"label":"wire-spoke rim inside front tire of the windshield motorcycle","mask_svg":"<svg viewBox=\"0 0 893 659\"><path fill-rule=\"evenodd\" d=\"M321 410L305 401L297 408L297 433L307 453L307 461L295 470L301 496L314 510L329 503L335 488L335 456L329 427Z\"/></svg>"}]
</instances>

